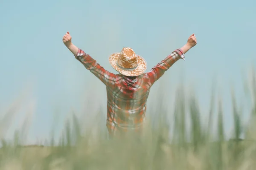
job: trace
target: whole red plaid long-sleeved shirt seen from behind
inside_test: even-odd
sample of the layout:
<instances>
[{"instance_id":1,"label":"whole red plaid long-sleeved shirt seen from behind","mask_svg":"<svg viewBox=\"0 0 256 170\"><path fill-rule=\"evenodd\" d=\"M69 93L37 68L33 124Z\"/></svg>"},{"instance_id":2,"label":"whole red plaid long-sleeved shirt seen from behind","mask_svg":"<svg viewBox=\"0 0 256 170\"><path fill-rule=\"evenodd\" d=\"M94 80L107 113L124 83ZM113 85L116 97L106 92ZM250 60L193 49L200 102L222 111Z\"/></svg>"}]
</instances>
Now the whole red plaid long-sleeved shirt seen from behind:
<instances>
[{"instance_id":1,"label":"whole red plaid long-sleeved shirt seen from behind","mask_svg":"<svg viewBox=\"0 0 256 170\"><path fill-rule=\"evenodd\" d=\"M141 125L145 119L146 102L151 86L178 59L184 59L184 54L181 49L173 51L151 71L135 79L105 70L81 49L75 57L107 88L107 128L109 134L113 136L129 129L141 129L140 127L142 127Z\"/></svg>"}]
</instances>

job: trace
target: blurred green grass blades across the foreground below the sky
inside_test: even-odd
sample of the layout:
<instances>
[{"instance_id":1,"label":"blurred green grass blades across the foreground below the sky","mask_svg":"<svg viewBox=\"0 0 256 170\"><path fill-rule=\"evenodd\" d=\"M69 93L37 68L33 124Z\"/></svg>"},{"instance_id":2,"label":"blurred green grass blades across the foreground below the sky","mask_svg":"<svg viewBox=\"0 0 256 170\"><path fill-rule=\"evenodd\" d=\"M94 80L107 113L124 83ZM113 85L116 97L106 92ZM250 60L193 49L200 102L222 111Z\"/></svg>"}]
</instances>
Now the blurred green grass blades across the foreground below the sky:
<instances>
[{"instance_id":1,"label":"blurred green grass blades across the foreground below the sky","mask_svg":"<svg viewBox=\"0 0 256 170\"><path fill-rule=\"evenodd\" d=\"M19 131L14 134L12 142L2 139L0 170L255 170L255 74L251 87L249 94L254 100L250 108L250 122L245 127L241 124L242 110L232 97L232 140L225 138L220 101L217 103L217 127L213 128L215 91L212 91L207 125L203 126L197 99L195 96L187 99L180 88L176 94L175 125L172 129L166 121L168 113L160 104L155 107L161 116L154 119L154 126L150 121L145 123L140 138L128 134L125 139L108 140L106 132L100 129L82 133L79 121L73 115L59 141L52 138L49 147L20 146L22 132ZM188 117L189 124L186 123ZM212 129L217 130L215 135L212 135ZM172 137L169 136L170 130ZM244 133L243 140L240 139L241 133Z\"/></svg>"}]
</instances>

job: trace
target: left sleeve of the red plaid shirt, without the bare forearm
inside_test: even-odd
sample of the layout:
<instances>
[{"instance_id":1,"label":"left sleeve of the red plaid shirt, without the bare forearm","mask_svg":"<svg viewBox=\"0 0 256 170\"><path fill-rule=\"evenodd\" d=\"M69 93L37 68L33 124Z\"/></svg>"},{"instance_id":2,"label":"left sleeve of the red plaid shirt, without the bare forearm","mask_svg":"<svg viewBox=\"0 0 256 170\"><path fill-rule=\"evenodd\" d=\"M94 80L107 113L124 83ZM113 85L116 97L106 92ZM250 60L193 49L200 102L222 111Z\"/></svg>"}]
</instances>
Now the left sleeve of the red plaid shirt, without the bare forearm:
<instances>
[{"instance_id":1,"label":"left sleeve of the red plaid shirt, without the bare forearm","mask_svg":"<svg viewBox=\"0 0 256 170\"><path fill-rule=\"evenodd\" d=\"M86 54L83 50L79 48L76 59L79 60L84 67L93 73L100 81L102 81L105 85L114 86L116 82L116 74L108 72L99 65L95 59L90 57L89 54Z\"/></svg>"}]
</instances>

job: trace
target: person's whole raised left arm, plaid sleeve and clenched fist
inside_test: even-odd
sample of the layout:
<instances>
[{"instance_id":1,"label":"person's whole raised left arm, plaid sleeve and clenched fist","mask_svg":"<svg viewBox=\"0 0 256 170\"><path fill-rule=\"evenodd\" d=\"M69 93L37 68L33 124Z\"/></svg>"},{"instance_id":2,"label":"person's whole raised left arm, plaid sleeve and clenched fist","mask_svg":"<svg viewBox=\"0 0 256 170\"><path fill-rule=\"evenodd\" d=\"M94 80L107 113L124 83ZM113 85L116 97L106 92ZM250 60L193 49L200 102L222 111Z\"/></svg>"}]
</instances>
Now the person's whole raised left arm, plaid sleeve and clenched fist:
<instances>
[{"instance_id":1,"label":"person's whole raised left arm, plaid sleeve and clenched fist","mask_svg":"<svg viewBox=\"0 0 256 170\"><path fill-rule=\"evenodd\" d=\"M114 87L116 81L116 75L105 70L101 65L99 65L95 59L86 54L83 50L76 47L71 42L72 37L70 33L67 32L63 36L63 43L72 52L72 54L79 60L87 70L90 70L96 77L100 79L108 87Z\"/></svg>"}]
</instances>

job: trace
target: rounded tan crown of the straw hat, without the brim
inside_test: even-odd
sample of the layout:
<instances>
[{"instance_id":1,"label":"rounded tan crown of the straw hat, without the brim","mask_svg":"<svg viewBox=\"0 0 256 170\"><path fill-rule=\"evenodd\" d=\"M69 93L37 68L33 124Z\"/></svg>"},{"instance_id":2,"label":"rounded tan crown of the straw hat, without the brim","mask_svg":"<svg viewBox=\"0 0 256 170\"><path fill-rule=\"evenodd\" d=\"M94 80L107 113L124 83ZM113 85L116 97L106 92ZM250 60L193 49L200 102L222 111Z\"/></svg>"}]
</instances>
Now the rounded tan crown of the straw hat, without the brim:
<instances>
[{"instance_id":1,"label":"rounded tan crown of the straw hat, without the brim","mask_svg":"<svg viewBox=\"0 0 256 170\"><path fill-rule=\"evenodd\" d=\"M117 65L122 68L136 68L138 66L138 57L134 50L129 47L122 48L121 53L117 59Z\"/></svg>"}]
</instances>

